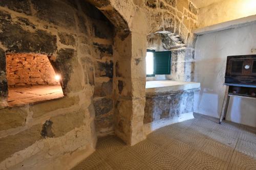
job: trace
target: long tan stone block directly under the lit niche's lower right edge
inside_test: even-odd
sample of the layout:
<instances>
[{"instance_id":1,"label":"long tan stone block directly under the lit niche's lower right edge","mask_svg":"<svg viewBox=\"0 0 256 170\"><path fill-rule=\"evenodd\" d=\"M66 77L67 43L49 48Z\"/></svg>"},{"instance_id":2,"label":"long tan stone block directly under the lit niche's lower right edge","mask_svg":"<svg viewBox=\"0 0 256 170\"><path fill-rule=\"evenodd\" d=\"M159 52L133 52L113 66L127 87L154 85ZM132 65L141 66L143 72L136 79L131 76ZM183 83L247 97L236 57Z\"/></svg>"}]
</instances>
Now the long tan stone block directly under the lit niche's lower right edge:
<instances>
[{"instance_id":1,"label":"long tan stone block directly under the lit niche's lower right edge","mask_svg":"<svg viewBox=\"0 0 256 170\"><path fill-rule=\"evenodd\" d=\"M64 97L61 99L56 99L54 101L47 101L44 103L33 105L29 109L30 111L33 112L33 118L37 118L50 111L71 107L73 105L78 104L78 102L79 102L78 96Z\"/></svg>"}]
</instances>

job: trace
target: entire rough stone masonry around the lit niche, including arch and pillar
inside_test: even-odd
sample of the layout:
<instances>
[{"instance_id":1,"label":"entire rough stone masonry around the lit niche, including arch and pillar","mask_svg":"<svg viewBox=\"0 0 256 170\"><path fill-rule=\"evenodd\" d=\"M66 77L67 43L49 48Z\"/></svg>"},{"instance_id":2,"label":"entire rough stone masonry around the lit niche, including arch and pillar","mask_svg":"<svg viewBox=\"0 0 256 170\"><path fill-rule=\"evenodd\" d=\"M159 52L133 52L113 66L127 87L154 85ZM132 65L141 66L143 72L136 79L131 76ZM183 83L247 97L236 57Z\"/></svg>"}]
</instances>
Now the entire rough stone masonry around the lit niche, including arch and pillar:
<instances>
[{"instance_id":1,"label":"entire rough stone masonry around the lit niche, including arch and pillar","mask_svg":"<svg viewBox=\"0 0 256 170\"><path fill-rule=\"evenodd\" d=\"M0 1L0 169L69 169L98 135L145 138L147 35L176 33L193 48L187 0ZM129 7L129 8L127 8ZM6 54L47 55L61 99L8 107Z\"/></svg>"}]
</instances>

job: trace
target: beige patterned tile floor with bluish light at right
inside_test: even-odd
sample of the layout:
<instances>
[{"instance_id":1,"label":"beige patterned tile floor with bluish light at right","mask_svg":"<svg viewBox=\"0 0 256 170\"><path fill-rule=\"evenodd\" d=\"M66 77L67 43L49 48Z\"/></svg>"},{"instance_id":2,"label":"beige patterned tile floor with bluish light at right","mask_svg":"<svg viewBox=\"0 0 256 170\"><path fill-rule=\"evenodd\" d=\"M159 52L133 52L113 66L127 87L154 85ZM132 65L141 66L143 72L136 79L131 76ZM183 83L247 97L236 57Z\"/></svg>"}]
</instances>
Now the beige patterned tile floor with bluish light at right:
<instances>
[{"instance_id":1,"label":"beige patterned tile floor with bluish light at right","mask_svg":"<svg viewBox=\"0 0 256 170\"><path fill-rule=\"evenodd\" d=\"M100 138L75 169L256 169L256 129L196 114L163 127L129 147Z\"/></svg>"}]
</instances>

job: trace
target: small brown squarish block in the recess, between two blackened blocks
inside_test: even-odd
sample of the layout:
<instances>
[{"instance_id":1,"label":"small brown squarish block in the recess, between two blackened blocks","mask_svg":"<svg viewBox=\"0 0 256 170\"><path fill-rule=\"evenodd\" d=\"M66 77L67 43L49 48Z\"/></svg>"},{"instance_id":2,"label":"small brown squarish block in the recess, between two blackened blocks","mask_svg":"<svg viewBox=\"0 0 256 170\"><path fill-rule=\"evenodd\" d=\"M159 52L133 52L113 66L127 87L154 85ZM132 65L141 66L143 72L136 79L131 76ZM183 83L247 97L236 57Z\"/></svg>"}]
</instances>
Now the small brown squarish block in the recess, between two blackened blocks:
<instances>
[{"instance_id":1,"label":"small brown squarish block in the recess, between two blackened blocks","mask_svg":"<svg viewBox=\"0 0 256 170\"><path fill-rule=\"evenodd\" d=\"M108 82L96 82L94 87L94 96L103 97L112 94L113 80Z\"/></svg>"}]
</instances>

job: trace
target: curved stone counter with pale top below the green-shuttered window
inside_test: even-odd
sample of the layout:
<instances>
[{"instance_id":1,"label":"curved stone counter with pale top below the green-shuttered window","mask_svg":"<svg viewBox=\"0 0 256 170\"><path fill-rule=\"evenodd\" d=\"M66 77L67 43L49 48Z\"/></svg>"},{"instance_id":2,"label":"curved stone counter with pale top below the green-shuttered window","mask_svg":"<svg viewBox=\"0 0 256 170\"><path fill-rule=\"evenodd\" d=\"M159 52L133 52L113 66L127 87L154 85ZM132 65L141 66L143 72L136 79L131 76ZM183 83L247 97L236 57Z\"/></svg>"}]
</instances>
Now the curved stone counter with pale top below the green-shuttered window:
<instances>
[{"instance_id":1,"label":"curved stone counter with pale top below the green-shuttered window","mask_svg":"<svg viewBox=\"0 0 256 170\"><path fill-rule=\"evenodd\" d=\"M145 133L193 118L194 92L199 90L195 82L146 82Z\"/></svg>"}]
</instances>

